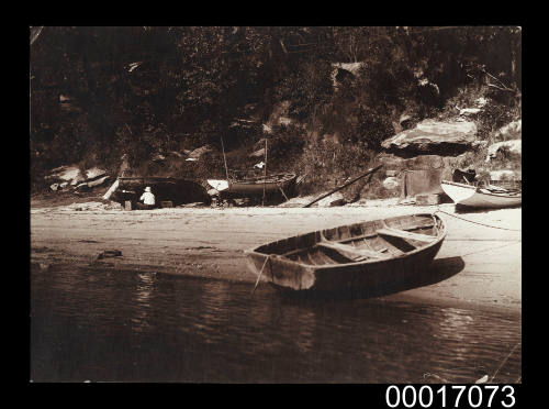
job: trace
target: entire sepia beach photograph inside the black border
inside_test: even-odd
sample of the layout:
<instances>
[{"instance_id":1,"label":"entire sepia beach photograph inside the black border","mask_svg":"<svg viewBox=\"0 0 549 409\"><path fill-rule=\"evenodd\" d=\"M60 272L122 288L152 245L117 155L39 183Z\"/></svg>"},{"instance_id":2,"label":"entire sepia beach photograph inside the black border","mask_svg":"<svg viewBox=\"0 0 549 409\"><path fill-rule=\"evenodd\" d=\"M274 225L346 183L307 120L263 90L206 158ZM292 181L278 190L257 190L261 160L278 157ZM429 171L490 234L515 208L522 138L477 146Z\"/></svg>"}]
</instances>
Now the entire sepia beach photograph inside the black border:
<instances>
[{"instance_id":1,"label":"entire sepia beach photograph inside the black border","mask_svg":"<svg viewBox=\"0 0 549 409\"><path fill-rule=\"evenodd\" d=\"M514 404L522 31L29 26L29 383Z\"/></svg>"}]
</instances>

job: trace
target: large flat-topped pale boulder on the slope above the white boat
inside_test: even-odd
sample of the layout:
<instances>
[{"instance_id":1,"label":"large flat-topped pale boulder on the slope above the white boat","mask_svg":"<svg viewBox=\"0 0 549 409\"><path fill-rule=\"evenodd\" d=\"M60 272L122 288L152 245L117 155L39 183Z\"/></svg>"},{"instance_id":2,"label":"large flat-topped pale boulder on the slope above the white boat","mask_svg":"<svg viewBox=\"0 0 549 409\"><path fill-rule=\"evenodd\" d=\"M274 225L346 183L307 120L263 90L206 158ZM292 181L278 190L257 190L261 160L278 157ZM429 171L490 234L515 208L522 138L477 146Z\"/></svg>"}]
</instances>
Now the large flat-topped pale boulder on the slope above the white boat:
<instances>
[{"instance_id":1,"label":"large flat-topped pale boulder on the slope above the white boat","mask_svg":"<svg viewBox=\"0 0 549 409\"><path fill-rule=\"evenodd\" d=\"M382 146L388 151L404 151L407 154L457 154L470 148L475 135L474 122L442 122L429 119L388 139Z\"/></svg>"}]
</instances>

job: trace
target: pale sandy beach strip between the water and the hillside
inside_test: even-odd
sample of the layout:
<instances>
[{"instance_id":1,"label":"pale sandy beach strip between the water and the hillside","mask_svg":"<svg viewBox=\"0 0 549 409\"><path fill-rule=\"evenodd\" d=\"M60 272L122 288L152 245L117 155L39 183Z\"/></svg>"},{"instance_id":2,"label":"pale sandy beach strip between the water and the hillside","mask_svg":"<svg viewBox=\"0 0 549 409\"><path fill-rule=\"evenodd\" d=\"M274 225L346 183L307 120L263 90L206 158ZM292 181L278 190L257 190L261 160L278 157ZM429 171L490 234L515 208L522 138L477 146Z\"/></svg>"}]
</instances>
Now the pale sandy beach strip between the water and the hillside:
<instances>
[{"instance_id":1,"label":"pale sandy beach strip between the water and the hillside","mask_svg":"<svg viewBox=\"0 0 549 409\"><path fill-rule=\"evenodd\" d=\"M90 203L93 204L93 203ZM258 244L313 230L440 209L453 204L400 206L395 199L370 200L336 208L176 208L148 211L104 210L101 203L31 209L31 262L47 269L71 264L81 268L142 270L245 281L257 277L244 251ZM385 296L467 308L522 310L522 233L471 224L439 213L448 235L435 262L462 268L428 286ZM522 228L520 209L456 213L506 229ZM120 257L97 259L104 250ZM464 263L464 265L463 265ZM457 273L457 274L456 274Z\"/></svg>"}]
</instances>

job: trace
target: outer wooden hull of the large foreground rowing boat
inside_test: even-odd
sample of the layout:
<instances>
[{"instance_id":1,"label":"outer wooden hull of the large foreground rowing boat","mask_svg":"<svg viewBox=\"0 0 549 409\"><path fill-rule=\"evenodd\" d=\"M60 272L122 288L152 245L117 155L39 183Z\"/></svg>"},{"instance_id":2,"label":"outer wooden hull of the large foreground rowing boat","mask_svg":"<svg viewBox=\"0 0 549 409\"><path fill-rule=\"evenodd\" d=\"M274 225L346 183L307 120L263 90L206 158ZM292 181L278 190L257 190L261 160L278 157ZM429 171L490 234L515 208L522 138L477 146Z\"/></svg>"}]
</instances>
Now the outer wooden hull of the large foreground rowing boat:
<instances>
[{"instance_id":1,"label":"outer wooden hull of the large foreground rowing boat","mask_svg":"<svg viewBox=\"0 0 549 409\"><path fill-rule=\"evenodd\" d=\"M262 268L262 279L285 292L363 291L380 294L392 289L412 288L414 285L425 283L426 275L429 274L428 266L440 250L446 236L446 228L438 217L432 214L419 217L436 221L437 232L434 241L394 257L356 263L312 265L276 254L288 251L292 247L292 243L294 243L295 248L313 247L315 243L322 241L320 237L323 235L329 235L329 232L333 233L334 230L337 232L343 228L348 228L339 226L322 231L323 234L320 234L321 232L307 233L248 251L246 252L248 267L256 275L259 275ZM374 237L377 229L391 224L392 221L399 222L399 219L403 218L405 217L365 222L362 231L371 232L373 240L378 240ZM351 229L356 225L351 225ZM332 235L333 237L341 237L337 233ZM270 253L266 254L267 252Z\"/></svg>"}]
</instances>

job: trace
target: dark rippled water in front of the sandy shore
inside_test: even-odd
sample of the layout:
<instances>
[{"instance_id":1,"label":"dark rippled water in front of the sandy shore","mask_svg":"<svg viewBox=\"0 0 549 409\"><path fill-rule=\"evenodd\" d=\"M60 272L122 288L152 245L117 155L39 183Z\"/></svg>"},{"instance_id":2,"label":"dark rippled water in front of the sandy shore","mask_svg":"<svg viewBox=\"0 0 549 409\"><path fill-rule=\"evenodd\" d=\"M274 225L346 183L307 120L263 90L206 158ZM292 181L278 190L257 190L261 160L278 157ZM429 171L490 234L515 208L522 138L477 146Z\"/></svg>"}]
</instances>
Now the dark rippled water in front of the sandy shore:
<instances>
[{"instance_id":1,"label":"dark rippled water in front of the sandy shore","mask_svg":"<svg viewBox=\"0 0 549 409\"><path fill-rule=\"evenodd\" d=\"M520 376L520 317L267 285L32 270L33 382L440 383ZM432 374L432 375L429 375Z\"/></svg>"}]
</instances>

